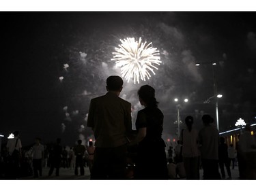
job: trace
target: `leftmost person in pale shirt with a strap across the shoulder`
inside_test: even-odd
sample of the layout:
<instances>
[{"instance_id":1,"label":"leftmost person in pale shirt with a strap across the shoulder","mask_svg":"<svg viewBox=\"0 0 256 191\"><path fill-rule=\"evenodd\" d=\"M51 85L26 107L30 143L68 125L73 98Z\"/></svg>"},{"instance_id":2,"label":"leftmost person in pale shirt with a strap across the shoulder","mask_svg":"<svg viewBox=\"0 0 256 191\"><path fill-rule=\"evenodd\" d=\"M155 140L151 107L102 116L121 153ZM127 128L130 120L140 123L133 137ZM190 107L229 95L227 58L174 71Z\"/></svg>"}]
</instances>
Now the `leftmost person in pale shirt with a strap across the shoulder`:
<instances>
[{"instance_id":1,"label":"leftmost person in pale shirt with a strap across the shoulder","mask_svg":"<svg viewBox=\"0 0 256 191\"><path fill-rule=\"evenodd\" d=\"M8 177L17 179L20 167L21 158L21 141L18 131L14 131L14 139L8 139L6 145L8 152Z\"/></svg>"}]
</instances>

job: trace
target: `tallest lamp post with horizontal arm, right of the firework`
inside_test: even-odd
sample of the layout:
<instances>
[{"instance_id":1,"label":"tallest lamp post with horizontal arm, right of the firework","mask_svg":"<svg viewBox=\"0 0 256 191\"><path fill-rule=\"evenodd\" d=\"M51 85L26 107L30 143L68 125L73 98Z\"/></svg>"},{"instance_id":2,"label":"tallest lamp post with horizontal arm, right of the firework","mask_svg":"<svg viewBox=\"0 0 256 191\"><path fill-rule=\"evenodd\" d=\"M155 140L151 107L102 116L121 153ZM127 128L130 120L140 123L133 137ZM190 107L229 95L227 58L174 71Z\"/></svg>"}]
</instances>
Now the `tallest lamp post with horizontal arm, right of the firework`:
<instances>
[{"instance_id":1,"label":"tallest lamp post with horizontal arm, right of the firework","mask_svg":"<svg viewBox=\"0 0 256 191\"><path fill-rule=\"evenodd\" d=\"M219 124L218 124L218 90L217 90L217 83L216 83L216 72L215 72L215 67L216 67L216 63L197 63L195 64L197 67L199 67L200 65L212 65L212 75L213 75L213 86L214 86L214 96L215 97L215 111L216 111L216 126L217 129L219 131ZM212 97L212 98L213 98Z\"/></svg>"}]
</instances>

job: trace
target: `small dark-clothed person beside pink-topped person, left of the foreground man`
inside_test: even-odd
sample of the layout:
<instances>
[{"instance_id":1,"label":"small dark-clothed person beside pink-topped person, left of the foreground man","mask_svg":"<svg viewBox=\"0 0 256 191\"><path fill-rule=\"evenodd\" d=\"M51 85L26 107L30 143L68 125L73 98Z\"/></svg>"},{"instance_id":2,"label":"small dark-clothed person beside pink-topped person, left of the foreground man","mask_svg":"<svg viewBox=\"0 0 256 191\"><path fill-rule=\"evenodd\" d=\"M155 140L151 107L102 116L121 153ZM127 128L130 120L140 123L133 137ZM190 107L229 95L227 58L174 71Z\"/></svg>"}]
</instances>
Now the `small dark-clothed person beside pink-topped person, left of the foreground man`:
<instances>
[{"instance_id":1,"label":"small dark-clothed person beside pink-topped person, left of the foreground man","mask_svg":"<svg viewBox=\"0 0 256 191\"><path fill-rule=\"evenodd\" d=\"M85 175L85 169L83 168L83 156L85 156L85 146L82 145L82 140L77 141L78 145L74 146L74 155L76 156L76 164L74 167L74 174L79 175L80 168L80 175Z\"/></svg>"}]
</instances>

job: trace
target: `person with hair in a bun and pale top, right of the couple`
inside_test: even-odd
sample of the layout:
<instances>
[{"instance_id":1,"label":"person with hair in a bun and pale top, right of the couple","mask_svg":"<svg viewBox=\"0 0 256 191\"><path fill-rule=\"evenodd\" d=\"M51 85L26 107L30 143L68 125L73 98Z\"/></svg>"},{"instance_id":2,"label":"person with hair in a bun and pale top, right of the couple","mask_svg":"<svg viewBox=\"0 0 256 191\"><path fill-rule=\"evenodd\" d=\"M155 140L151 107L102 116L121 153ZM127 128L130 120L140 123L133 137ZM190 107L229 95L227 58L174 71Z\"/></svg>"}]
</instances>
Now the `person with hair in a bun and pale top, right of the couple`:
<instances>
[{"instance_id":1,"label":"person with hair in a bun and pale top, right of the couple","mask_svg":"<svg viewBox=\"0 0 256 191\"><path fill-rule=\"evenodd\" d=\"M194 119L192 116L185 118L186 129L180 137L182 141L182 156L186 171L186 179L200 179L199 176L199 135L193 128Z\"/></svg>"}]
</instances>

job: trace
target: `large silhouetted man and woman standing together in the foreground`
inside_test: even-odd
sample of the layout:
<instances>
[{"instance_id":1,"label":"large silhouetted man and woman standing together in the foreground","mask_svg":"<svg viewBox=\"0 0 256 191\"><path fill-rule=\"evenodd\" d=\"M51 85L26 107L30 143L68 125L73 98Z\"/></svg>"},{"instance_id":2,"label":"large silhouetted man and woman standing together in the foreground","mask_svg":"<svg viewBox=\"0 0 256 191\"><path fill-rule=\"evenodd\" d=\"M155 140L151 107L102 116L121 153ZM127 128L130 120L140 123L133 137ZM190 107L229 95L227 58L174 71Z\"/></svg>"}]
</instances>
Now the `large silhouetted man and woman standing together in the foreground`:
<instances>
[{"instance_id":1,"label":"large silhouetted man and woman standing together in the foreground","mask_svg":"<svg viewBox=\"0 0 256 191\"><path fill-rule=\"evenodd\" d=\"M87 126L96 139L91 179L126 179L127 147L134 144L138 144L135 179L168 179L165 141L161 138L164 116L158 109L155 90L145 85L138 91L145 108L138 112L137 137L129 143L131 103L119 97L123 83L121 77L110 76L107 93L91 99Z\"/></svg>"}]
</instances>

